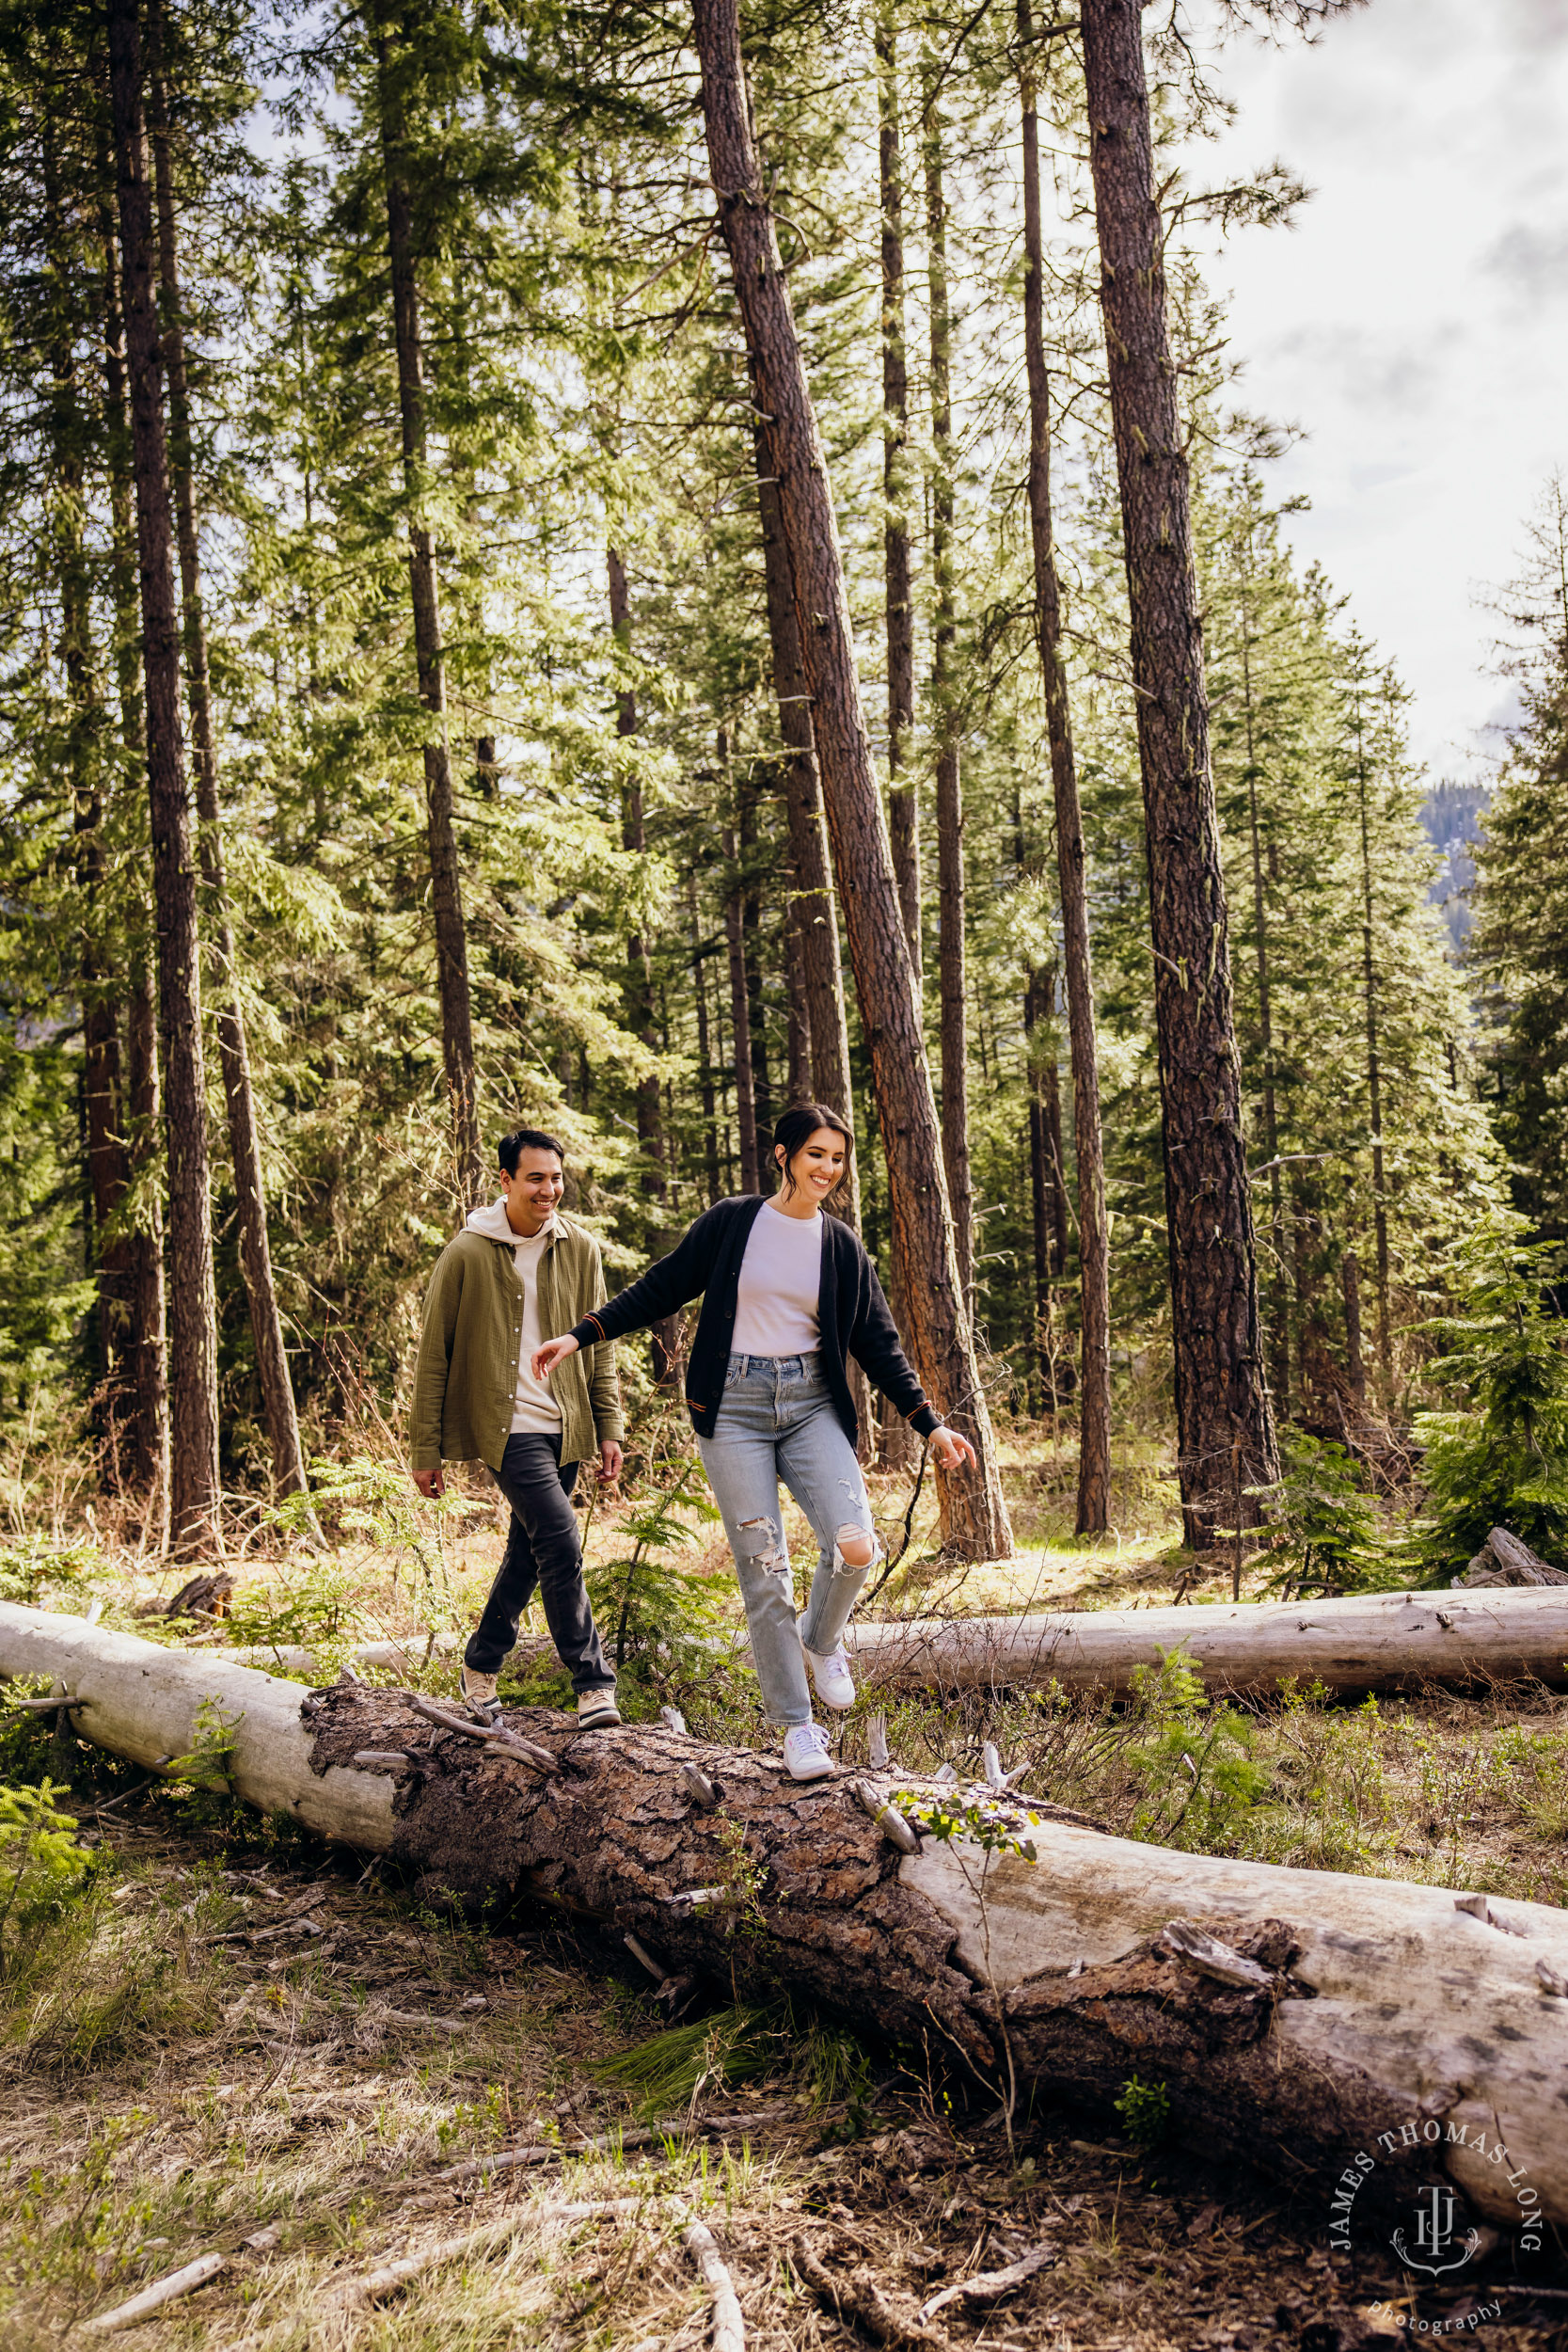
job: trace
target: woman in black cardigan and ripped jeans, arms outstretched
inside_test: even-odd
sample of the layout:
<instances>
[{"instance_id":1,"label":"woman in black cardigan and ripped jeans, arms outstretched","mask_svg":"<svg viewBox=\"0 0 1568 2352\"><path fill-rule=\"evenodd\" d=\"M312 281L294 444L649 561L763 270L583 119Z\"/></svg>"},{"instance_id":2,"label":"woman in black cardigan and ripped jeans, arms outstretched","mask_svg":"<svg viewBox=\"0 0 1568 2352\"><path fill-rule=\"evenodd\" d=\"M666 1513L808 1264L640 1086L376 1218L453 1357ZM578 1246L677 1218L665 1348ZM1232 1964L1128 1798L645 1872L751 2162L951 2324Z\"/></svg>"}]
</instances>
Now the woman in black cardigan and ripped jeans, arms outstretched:
<instances>
[{"instance_id":1,"label":"woman in black cardigan and ripped jeans, arms outstretched","mask_svg":"<svg viewBox=\"0 0 1568 2352\"><path fill-rule=\"evenodd\" d=\"M931 1442L943 1470L976 1458L926 1404L858 1237L825 1214L851 1150L837 1110L785 1110L773 1129L780 1188L771 1200L745 1192L715 1202L668 1258L534 1355L534 1378L545 1381L576 1348L646 1331L703 1298L686 1404L736 1557L762 1700L769 1722L783 1726L792 1780L823 1780L835 1769L827 1733L811 1719L806 1670L825 1708L856 1703L844 1628L882 1557L856 1461L846 1357ZM799 1623L780 1477L820 1545Z\"/></svg>"}]
</instances>

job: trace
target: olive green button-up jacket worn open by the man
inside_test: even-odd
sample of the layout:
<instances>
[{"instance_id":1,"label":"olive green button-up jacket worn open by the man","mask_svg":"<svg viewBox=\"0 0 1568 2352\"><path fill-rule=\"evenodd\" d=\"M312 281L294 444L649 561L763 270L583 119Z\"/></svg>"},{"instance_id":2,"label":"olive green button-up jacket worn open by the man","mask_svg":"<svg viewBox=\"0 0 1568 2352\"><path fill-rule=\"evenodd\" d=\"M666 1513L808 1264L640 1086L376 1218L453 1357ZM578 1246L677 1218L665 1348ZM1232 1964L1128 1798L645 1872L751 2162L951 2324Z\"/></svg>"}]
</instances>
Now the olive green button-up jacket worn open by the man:
<instances>
[{"instance_id":1,"label":"olive green button-up jacket worn open by the man","mask_svg":"<svg viewBox=\"0 0 1568 2352\"><path fill-rule=\"evenodd\" d=\"M538 1334L559 1338L604 1305L599 1244L559 1209L557 1232L538 1261ZM522 1282L505 1242L463 1230L447 1242L425 1296L414 1367L409 1463L442 1461L501 1468L517 1395ZM583 1348L550 1374L562 1409L562 1463L592 1461L604 1437L621 1437L621 1383L611 1345Z\"/></svg>"}]
</instances>

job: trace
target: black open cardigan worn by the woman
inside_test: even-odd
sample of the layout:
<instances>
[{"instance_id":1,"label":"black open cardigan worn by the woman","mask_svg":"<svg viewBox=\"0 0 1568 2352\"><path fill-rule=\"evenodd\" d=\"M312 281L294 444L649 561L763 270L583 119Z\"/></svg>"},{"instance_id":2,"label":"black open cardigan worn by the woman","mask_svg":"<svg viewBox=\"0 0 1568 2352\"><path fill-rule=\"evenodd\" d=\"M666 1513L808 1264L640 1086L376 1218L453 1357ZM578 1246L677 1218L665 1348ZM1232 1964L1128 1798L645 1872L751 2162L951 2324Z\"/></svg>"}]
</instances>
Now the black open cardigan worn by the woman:
<instances>
[{"instance_id":1,"label":"black open cardigan worn by the woman","mask_svg":"<svg viewBox=\"0 0 1568 2352\"><path fill-rule=\"evenodd\" d=\"M583 1322L571 1327L571 1338L578 1348L592 1348L597 1341L625 1338L628 1331L646 1331L649 1324L675 1315L701 1296L703 1312L698 1315L696 1341L686 1362L686 1404L701 1437L712 1437L712 1425L724 1402L724 1371L736 1334L741 1258L745 1256L745 1242L759 1211L762 1197L757 1192L719 1200L712 1209L703 1209L696 1225L679 1237L668 1258L658 1258L639 1282L632 1282L609 1305L595 1308L592 1315L583 1315ZM922 1437L931 1437L943 1421L926 1404L926 1392L898 1345L898 1331L877 1282L877 1268L865 1256L858 1235L827 1214L823 1214L823 1284L816 1310L823 1374L849 1442L856 1444L860 1435L844 1371L844 1359L851 1355L882 1395L891 1399L893 1409Z\"/></svg>"}]
</instances>

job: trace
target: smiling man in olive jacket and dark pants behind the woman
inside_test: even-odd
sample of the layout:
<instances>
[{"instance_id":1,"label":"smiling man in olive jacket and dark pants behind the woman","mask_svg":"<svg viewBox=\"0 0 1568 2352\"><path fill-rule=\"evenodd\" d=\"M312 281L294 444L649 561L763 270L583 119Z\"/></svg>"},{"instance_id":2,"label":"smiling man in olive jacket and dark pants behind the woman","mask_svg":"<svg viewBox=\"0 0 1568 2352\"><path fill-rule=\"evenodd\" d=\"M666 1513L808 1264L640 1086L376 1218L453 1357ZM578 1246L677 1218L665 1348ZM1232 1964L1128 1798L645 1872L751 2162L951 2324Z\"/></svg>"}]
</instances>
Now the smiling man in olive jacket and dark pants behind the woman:
<instances>
[{"instance_id":1,"label":"smiling man in olive jacket and dark pants behind the woman","mask_svg":"<svg viewBox=\"0 0 1568 2352\"><path fill-rule=\"evenodd\" d=\"M498 1157L503 1197L473 1211L430 1277L414 1369L414 1484L437 1496L442 1461L482 1461L512 1510L501 1571L463 1653L473 1715L501 1712L496 1675L538 1588L578 1724L597 1731L621 1722L616 1672L592 1623L569 1496L595 1451L599 1484L621 1475L616 1350L588 1348L548 1383L534 1378L529 1357L604 1305L604 1270L592 1235L559 1214L555 1136L520 1127L501 1138Z\"/></svg>"}]
</instances>

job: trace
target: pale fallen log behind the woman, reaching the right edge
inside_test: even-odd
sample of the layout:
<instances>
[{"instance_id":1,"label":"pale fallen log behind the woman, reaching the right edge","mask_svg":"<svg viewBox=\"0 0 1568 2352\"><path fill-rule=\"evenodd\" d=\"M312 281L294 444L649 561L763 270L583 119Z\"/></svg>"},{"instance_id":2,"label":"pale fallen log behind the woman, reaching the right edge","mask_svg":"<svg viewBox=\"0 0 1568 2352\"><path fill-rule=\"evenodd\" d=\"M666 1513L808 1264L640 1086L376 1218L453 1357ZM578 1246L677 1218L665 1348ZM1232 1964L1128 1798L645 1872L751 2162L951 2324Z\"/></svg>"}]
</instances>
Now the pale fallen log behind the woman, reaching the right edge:
<instances>
[{"instance_id":1,"label":"pale fallen log behind the woman, reaching the right edge","mask_svg":"<svg viewBox=\"0 0 1568 2352\"><path fill-rule=\"evenodd\" d=\"M1361 1592L1335 1602L1074 1609L1013 1618L903 1618L849 1632L863 1691L1133 1689L1180 1649L1211 1691L1265 1693L1295 1677L1326 1691L1535 1679L1568 1686L1568 1590Z\"/></svg>"}]
</instances>

